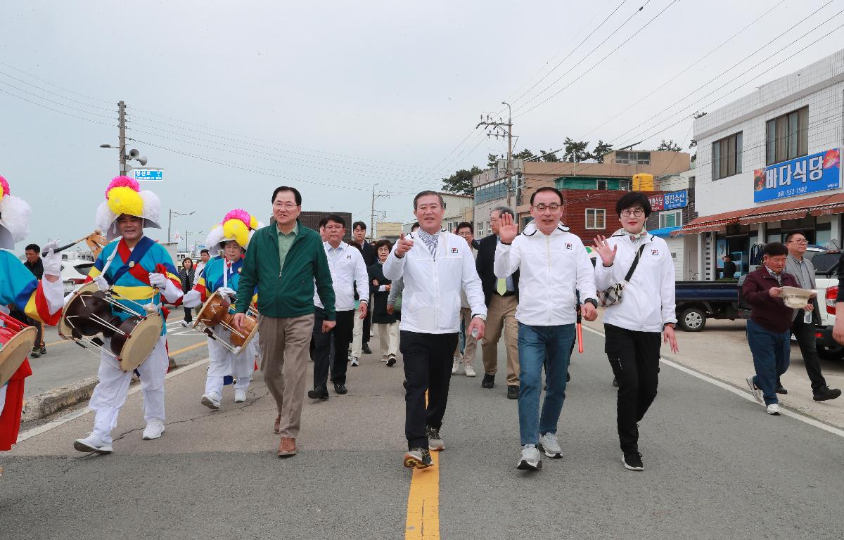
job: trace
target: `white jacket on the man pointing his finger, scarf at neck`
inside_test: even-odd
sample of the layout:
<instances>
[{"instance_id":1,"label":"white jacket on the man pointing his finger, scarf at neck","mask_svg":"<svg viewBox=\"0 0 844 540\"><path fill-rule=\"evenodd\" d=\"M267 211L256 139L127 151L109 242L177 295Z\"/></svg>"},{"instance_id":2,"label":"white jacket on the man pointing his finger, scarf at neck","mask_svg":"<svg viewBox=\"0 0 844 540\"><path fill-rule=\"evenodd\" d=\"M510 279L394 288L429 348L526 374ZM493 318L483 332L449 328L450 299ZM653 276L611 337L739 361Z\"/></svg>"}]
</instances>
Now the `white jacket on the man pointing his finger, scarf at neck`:
<instances>
[{"instance_id":1,"label":"white jacket on the man pointing his finger, scarf at neck","mask_svg":"<svg viewBox=\"0 0 844 540\"><path fill-rule=\"evenodd\" d=\"M404 281L399 328L426 334L459 332L461 290L466 291L473 315L486 316L484 291L466 240L443 230L436 257L431 257L418 235L405 238L414 240L414 246L402 258L393 248L383 268L385 278Z\"/></svg>"}]
</instances>

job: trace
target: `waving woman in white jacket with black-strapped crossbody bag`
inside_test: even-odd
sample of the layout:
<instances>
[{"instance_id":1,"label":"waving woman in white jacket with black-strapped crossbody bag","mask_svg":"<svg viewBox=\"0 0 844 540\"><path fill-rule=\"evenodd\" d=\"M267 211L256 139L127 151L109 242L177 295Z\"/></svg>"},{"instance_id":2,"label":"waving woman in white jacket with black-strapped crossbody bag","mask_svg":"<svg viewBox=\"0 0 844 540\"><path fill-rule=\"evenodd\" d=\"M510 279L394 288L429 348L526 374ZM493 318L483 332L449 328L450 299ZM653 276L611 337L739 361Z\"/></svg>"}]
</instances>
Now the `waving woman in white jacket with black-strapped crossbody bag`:
<instances>
[{"instance_id":1,"label":"waving woman in white jacket with black-strapped crossbody bag","mask_svg":"<svg viewBox=\"0 0 844 540\"><path fill-rule=\"evenodd\" d=\"M619 382L618 429L623 461L631 471L644 466L639 453L638 423L657 397L659 348L662 341L677 352L674 336L674 262L665 240L647 233L651 204L639 192L625 193L615 203L621 229L609 238L598 236L595 246L601 264L595 266L598 290L625 284L621 302L603 316L605 350Z\"/></svg>"}]
</instances>

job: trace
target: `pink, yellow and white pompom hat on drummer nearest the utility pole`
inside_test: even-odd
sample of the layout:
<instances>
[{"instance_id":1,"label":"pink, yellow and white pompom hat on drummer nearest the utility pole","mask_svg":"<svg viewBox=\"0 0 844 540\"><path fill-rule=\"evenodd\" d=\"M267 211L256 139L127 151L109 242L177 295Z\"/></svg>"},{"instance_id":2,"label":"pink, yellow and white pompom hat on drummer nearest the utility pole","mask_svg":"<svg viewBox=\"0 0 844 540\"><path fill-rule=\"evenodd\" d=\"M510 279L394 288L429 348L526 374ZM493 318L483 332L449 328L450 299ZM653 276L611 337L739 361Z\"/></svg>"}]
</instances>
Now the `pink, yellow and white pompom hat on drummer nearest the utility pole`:
<instances>
[{"instance_id":1,"label":"pink, yellow and white pompom hat on drummer nearest the utility pole","mask_svg":"<svg viewBox=\"0 0 844 540\"><path fill-rule=\"evenodd\" d=\"M128 176L117 176L106 187L106 200L97 208L97 227L106 233L110 241L120 236L117 218L127 214L143 219L144 227L160 229L161 202L150 191L141 191L138 181Z\"/></svg>"}]
</instances>

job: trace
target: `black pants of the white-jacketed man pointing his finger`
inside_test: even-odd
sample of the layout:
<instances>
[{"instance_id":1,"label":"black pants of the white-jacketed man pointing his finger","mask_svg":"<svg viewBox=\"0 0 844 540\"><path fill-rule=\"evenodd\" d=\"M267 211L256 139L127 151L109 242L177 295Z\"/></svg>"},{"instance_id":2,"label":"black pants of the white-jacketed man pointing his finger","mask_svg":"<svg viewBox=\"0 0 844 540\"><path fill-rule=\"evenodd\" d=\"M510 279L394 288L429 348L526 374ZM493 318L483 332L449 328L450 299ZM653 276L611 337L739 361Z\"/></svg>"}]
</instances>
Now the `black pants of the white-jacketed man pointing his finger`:
<instances>
[{"instance_id":1,"label":"black pants of the white-jacketed man pointing his finger","mask_svg":"<svg viewBox=\"0 0 844 540\"><path fill-rule=\"evenodd\" d=\"M404 358L404 435L408 449L427 448L425 426L439 429L446 414L448 383L452 380L452 356L457 333L401 332L399 350ZM428 406L425 407L425 391Z\"/></svg>"}]
</instances>

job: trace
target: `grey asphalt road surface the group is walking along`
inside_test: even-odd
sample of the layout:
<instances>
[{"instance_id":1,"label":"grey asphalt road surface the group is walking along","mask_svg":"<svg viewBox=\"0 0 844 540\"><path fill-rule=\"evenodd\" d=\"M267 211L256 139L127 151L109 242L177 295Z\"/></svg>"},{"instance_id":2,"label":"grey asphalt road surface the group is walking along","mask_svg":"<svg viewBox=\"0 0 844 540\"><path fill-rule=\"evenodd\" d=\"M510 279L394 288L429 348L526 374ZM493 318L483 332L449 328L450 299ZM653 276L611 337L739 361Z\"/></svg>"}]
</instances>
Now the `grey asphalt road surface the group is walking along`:
<instances>
[{"instance_id":1,"label":"grey asphalt road surface the group is walking along","mask_svg":"<svg viewBox=\"0 0 844 540\"><path fill-rule=\"evenodd\" d=\"M133 393L111 456L73 451L89 413L0 456L0 531L21 539L402 538L411 478L436 474L439 504L426 511L438 510L438 524L425 538L841 537L840 435L768 416L665 365L641 424L645 471L626 471L603 338L584 338L560 419L565 456L544 460L538 473L515 468L517 402L505 397L503 370L492 390L480 377L452 377L446 451L412 476L401 465L400 362L387 368L376 351L349 368L348 395L306 400L300 453L284 460L274 453L274 404L260 375L246 403L235 406L227 388L224 407L211 412L199 404L197 363L166 382L160 440L141 440Z\"/></svg>"}]
</instances>

